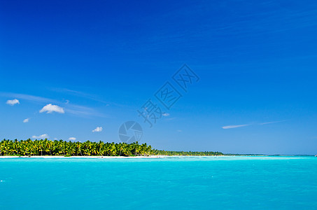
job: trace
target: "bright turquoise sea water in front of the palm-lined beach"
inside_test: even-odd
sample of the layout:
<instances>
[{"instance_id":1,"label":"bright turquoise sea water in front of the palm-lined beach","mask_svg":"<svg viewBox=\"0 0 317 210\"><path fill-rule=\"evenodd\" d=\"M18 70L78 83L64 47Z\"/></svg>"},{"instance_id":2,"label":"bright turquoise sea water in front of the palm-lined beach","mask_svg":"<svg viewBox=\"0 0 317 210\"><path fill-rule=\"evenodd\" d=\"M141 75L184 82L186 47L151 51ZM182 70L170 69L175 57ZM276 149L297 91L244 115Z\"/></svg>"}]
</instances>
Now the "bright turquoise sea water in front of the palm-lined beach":
<instances>
[{"instance_id":1,"label":"bright turquoise sea water in front of the palm-lined beach","mask_svg":"<svg viewBox=\"0 0 317 210\"><path fill-rule=\"evenodd\" d=\"M317 158L0 159L0 209L317 209Z\"/></svg>"}]
</instances>

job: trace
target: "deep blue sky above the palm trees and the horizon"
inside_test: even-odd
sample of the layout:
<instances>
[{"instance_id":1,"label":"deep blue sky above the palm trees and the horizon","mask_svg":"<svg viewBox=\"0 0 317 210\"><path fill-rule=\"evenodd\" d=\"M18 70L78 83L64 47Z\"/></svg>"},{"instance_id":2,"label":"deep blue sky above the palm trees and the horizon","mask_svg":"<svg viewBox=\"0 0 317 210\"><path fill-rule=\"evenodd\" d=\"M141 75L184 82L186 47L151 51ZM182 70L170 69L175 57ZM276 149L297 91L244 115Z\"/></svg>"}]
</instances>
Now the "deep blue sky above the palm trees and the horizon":
<instances>
[{"instance_id":1,"label":"deep blue sky above the palm trees and the horizon","mask_svg":"<svg viewBox=\"0 0 317 210\"><path fill-rule=\"evenodd\" d=\"M0 137L119 142L134 120L159 149L315 154L316 26L316 1L0 1ZM150 128L167 81L183 97Z\"/></svg>"}]
</instances>

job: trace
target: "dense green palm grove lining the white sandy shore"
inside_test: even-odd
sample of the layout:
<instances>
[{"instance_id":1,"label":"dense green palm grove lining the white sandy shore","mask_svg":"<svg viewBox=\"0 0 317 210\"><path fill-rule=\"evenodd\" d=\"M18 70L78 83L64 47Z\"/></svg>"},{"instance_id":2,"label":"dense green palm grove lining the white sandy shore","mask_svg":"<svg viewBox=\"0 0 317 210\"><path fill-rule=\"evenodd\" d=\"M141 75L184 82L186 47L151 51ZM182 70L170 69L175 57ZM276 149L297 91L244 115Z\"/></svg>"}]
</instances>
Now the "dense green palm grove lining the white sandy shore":
<instances>
[{"instance_id":1,"label":"dense green palm grove lining the white sandy shore","mask_svg":"<svg viewBox=\"0 0 317 210\"><path fill-rule=\"evenodd\" d=\"M73 142L48 139L18 141L15 139L0 142L0 155L61 155L70 156L147 156L147 155L223 155L219 152L173 152L153 150L151 146L126 143L104 143L103 141Z\"/></svg>"}]
</instances>

